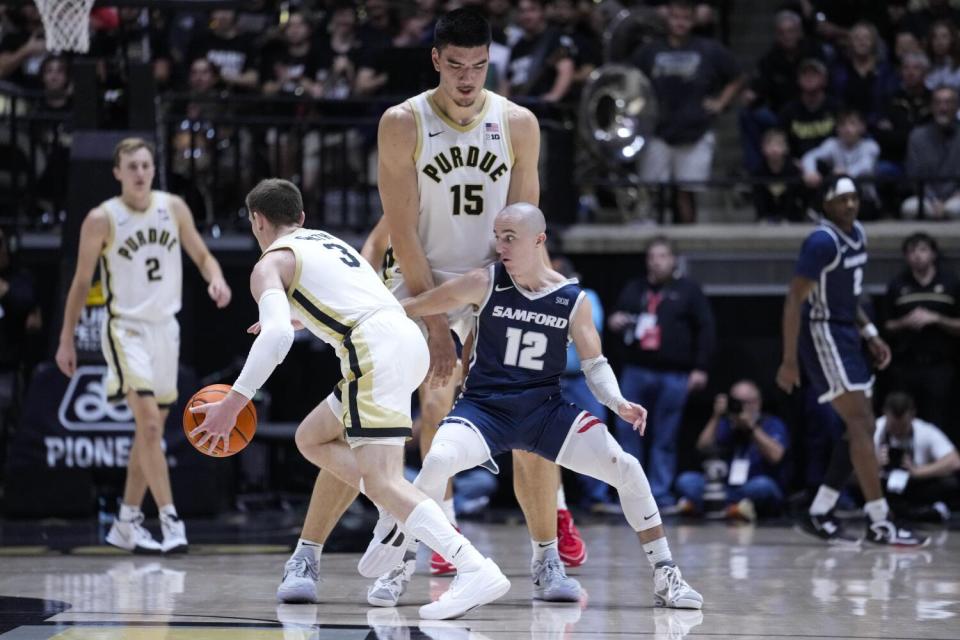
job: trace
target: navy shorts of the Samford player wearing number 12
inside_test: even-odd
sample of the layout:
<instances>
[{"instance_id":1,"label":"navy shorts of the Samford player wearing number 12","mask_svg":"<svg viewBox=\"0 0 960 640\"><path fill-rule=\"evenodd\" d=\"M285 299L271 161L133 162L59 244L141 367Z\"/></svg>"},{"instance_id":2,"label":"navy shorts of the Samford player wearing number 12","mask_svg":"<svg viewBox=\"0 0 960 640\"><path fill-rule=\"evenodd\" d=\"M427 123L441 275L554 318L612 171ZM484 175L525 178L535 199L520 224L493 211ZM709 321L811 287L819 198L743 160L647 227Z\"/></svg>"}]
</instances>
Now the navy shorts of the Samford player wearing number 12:
<instances>
[{"instance_id":1,"label":"navy shorts of the Samford player wearing number 12","mask_svg":"<svg viewBox=\"0 0 960 640\"><path fill-rule=\"evenodd\" d=\"M467 392L440 423L460 423L474 429L489 449L483 466L498 471L493 457L520 449L555 461L571 427L582 414L563 400L560 389L531 389L504 393Z\"/></svg>"}]
</instances>

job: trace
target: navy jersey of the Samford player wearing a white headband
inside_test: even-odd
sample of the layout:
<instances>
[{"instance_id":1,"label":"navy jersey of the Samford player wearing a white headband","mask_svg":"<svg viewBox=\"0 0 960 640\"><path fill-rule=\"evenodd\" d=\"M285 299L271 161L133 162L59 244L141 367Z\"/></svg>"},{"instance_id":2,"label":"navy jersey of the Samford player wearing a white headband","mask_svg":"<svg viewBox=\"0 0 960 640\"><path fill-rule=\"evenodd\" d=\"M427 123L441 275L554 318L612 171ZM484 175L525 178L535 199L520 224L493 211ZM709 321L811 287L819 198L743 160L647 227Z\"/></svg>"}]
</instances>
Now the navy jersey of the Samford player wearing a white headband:
<instances>
[{"instance_id":1,"label":"navy jersey of the Samford player wearing a white headband","mask_svg":"<svg viewBox=\"0 0 960 640\"><path fill-rule=\"evenodd\" d=\"M795 273L816 282L804 303L809 320L854 323L857 302L863 291L867 264L867 236L859 222L847 235L824 219L807 236L800 250Z\"/></svg>"}]
</instances>

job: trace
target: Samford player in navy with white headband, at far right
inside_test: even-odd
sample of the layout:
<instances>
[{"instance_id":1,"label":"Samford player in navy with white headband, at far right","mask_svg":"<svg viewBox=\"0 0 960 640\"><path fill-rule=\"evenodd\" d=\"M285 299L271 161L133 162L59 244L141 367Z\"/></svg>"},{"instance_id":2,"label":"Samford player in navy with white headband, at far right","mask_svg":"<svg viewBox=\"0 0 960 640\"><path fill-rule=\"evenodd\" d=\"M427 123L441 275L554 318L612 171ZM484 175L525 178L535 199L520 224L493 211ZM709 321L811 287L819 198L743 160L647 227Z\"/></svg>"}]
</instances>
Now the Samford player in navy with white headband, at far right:
<instances>
[{"instance_id":1,"label":"Samford player in navy with white headband, at far right","mask_svg":"<svg viewBox=\"0 0 960 640\"><path fill-rule=\"evenodd\" d=\"M860 197L849 176L835 176L823 198L824 219L803 243L783 310L783 362L777 385L791 392L800 367L821 403L830 402L847 426L834 447L824 483L801 523L805 533L833 544L856 544L833 509L851 466L866 499L866 539L876 544L915 546L926 538L896 526L880 488L873 449L870 406L873 372L861 336L876 365L890 364L890 348L860 308L867 264L867 236L857 222ZM799 352L799 360L798 360Z\"/></svg>"}]
</instances>

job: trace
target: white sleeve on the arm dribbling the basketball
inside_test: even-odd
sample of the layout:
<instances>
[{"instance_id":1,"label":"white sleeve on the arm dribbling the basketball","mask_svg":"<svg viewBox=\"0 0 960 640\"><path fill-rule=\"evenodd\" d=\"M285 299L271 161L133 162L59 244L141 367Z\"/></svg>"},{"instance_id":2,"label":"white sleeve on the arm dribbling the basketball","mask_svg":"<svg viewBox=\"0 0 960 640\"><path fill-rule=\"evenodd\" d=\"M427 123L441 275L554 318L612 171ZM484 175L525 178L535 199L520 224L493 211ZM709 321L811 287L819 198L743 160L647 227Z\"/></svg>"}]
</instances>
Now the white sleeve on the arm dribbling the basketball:
<instances>
[{"instance_id":1,"label":"white sleeve on the arm dribbling the basketball","mask_svg":"<svg viewBox=\"0 0 960 640\"><path fill-rule=\"evenodd\" d=\"M283 362L293 344L290 303L282 289L267 289L257 303L260 308L260 335L253 341L247 362L233 390L253 398L277 365Z\"/></svg>"}]
</instances>

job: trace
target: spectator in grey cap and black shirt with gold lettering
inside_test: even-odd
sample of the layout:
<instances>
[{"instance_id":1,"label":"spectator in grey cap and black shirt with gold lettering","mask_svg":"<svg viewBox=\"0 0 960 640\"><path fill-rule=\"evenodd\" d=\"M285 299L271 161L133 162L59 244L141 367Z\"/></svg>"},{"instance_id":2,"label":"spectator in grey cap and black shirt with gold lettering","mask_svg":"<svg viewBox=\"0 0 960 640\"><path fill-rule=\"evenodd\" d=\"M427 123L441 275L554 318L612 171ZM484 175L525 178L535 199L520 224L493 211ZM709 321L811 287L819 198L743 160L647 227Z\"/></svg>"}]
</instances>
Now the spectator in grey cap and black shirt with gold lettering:
<instances>
[{"instance_id":1,"label":"spectator in grey cap and black shirt with gold lettering","mask_svg":"<svg viewBox=\"0 0 960 640\"><path fill-rule=\"evenodd\" d=\"M800 63L797 85L800 96L780 112L780 124L787 132L791 157L799 161L833 135L839 107L827 96L827 67L820 60L808 58Z\"/></svg>"}]
</instances>

